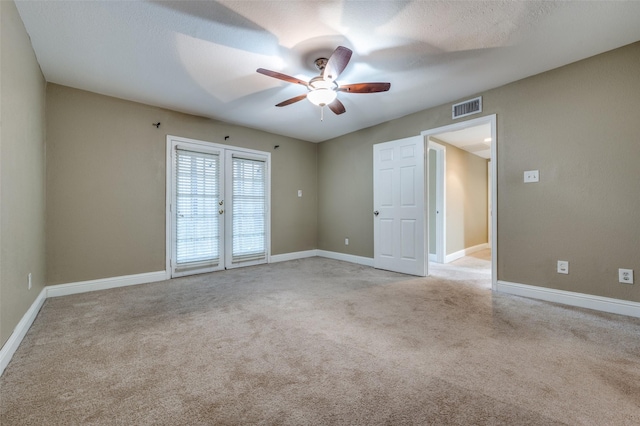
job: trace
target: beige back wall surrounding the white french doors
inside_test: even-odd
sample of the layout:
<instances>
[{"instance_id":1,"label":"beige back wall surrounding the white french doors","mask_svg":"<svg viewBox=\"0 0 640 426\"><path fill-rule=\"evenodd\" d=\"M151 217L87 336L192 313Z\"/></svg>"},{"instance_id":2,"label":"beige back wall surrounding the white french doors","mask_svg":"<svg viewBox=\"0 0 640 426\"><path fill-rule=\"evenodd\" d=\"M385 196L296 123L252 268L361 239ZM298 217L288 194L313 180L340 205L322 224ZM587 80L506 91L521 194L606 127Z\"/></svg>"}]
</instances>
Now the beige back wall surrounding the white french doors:
<instances>
[{"instance_id":1,"label":"beige back wall surrounding the white french doors","mask_svg":"<svg viewBox=\"0 0 640 426\"><path fill-rule=\"evenodd\" d=\"M47 284L165 269L168 134L271 152L271 253L316 248L316 144L50 84Z\"/></svg>"}]
</instances>

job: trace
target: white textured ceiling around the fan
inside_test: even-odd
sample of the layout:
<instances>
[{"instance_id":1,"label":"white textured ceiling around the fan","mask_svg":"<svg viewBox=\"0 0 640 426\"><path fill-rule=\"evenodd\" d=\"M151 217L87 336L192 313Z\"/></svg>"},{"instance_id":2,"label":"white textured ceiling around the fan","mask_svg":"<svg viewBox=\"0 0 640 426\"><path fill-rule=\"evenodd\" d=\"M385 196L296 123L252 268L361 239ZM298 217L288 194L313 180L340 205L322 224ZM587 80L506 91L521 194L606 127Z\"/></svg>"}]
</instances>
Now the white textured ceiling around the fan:
<instances>
[{"instance_id":1,"label":"white textured ceiling around the fan","mask_svg":"<svg viewBox=\"0 0 640 426\"><path fill-rule=\"evenodd\" d=\"M16 1L49 82L319 142L640 40L640 2ZM308 80L338 45L340 116Z\"/></svg>"}]
</instances>

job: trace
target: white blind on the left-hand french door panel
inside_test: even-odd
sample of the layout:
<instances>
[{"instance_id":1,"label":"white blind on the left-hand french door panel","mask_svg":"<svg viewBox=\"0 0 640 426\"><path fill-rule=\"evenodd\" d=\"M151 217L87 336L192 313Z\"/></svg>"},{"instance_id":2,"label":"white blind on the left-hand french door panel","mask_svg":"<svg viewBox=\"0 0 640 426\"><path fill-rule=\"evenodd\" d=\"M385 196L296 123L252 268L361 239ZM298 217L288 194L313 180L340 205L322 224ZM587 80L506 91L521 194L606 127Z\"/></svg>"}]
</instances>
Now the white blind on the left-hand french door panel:
<instances>
[{"instance_id":1,"label":"white blind on the left-hand french door panel","mask_svg":"<svg viewBox=\"0 0 640 426\"><path fill-rule=\"evenodd\" d=\"M176 263L220 261L220 156L176 149Z\"/></svg>"}]
</instances>

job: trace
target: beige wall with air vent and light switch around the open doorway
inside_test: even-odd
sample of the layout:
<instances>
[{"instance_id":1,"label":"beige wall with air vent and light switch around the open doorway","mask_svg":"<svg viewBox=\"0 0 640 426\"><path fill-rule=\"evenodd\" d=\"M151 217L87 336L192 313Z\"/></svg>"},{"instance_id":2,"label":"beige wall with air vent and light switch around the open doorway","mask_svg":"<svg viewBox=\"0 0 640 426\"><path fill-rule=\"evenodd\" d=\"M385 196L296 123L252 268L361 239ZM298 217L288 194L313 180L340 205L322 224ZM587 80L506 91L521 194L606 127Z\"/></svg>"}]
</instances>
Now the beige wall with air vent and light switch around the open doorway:
<instances>
[{"instance_id":1,"label":"beige wall with air vent and light switch around the open doorway","mask_svg":"<svg viewBox=\"0 0 640 426\"><path fill-rule=\"evenodd\" d=\"M498 123L498 279L640 301L617 282L640 274L638 69L640 42L480 93ZM447 104L320 144L319 248L372 257L373 144L451 123Z\"/></svg>"}]
</instances>

